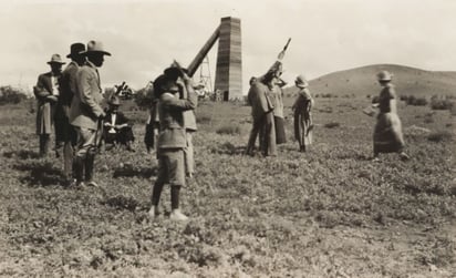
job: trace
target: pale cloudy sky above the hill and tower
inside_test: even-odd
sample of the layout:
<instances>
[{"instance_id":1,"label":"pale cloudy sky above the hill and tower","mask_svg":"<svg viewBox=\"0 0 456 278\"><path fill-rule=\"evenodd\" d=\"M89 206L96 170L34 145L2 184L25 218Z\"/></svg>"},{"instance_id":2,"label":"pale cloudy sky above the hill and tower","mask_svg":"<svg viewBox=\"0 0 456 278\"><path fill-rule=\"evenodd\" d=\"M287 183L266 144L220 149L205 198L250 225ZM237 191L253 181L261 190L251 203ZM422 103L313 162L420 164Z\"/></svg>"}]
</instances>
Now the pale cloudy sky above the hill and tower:
<instances>
[{"instance_id":1,"label":"pale cloudy sky above the hill and tower","mask_svg":"<svg viewBox=\"0 0 456 278\"><path fill-rule=\"evenodd\" d=\"M0 85L31 87L53 53L102 41L104 86L144 87L173 60L188 65L224 17L241 20L242 87L288 38L283 79L377 63L456 70L453 0L0 0ZM195 74L215 81L217 43ZM70 62L65 59L66 62Z\"/></svg>"}]
</instances>

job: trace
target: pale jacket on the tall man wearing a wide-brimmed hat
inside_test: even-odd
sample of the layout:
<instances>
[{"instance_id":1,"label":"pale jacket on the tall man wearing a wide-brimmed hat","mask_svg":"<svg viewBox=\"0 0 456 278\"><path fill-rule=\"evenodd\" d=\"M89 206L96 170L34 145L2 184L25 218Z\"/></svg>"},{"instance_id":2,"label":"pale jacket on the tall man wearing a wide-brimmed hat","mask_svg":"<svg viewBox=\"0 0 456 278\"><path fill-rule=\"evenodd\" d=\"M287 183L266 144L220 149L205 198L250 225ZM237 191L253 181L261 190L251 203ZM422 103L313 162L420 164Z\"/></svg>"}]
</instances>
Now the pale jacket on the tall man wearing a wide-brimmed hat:
<instances>
[{"instance_id":1,"label":"pale jacket on the tall man wearing a wide-brimmed hat","mask_svg":"<svg viewBox=\"0 0 456 278\"><path fill-rule=\"evenodd\" d=\"M77 93L73 96L70 109L70 123L74 126L96 130L100 115L103 114L103 100L100 75L96 66L87 61L77 72Z\"/></svg>"}]
</instances>

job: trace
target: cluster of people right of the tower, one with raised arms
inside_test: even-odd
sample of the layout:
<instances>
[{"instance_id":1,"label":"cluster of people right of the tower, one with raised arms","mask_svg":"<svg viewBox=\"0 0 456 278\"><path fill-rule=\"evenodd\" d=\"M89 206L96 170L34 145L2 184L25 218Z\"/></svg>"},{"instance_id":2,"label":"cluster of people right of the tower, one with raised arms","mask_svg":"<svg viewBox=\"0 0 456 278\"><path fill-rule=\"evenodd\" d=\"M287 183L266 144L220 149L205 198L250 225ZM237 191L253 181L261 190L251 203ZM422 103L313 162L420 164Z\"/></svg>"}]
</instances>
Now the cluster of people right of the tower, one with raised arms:
<instances>
[{"instance_id":1,"label":"cluster of people right of the tower, one with raised arms","mask_svg":"<svg viewBox=\"0 0 456 278\"><path fill-rule=\"evenodd\" d=\"M251 106L253 124L246 147L248 155L255 154L257 137L263 156L276 156L277 145L287 142L282 91L287 82L280 78L281 74L282 63L276 61L265 75L250 79L247 101ZM313 99L308 89L309 83L302 75L296 79L294 85L299 89L298 97L292 105L294 137L299 142L299 150L305 152L305 147L312 143Z\"/></svg>"}]
</instances>

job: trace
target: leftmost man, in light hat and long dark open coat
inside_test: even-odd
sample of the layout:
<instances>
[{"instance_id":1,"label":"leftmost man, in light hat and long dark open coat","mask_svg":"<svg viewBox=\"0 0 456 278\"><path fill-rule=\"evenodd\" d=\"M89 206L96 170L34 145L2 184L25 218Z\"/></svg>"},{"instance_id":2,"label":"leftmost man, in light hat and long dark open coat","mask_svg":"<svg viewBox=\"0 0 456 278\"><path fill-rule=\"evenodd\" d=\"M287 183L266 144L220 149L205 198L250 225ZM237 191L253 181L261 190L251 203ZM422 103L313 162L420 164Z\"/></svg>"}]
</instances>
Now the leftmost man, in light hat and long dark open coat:
<instances>
[{"instance_id":1,"label":"leftmost man, in light hat and long dark open coat","mask_svg":"<svg viewBox=\"0 0 456 278\"><path fill-rule=\"evenodd\" d=\"M55 104L60 94L59 79L62 75L64 62L59 54L53 54L48 62L51 71L38 76L33 93L38 101L37 134L40 137L40 156L48 155L51 131L54 124Z\"/></svg>"}]
</instances>

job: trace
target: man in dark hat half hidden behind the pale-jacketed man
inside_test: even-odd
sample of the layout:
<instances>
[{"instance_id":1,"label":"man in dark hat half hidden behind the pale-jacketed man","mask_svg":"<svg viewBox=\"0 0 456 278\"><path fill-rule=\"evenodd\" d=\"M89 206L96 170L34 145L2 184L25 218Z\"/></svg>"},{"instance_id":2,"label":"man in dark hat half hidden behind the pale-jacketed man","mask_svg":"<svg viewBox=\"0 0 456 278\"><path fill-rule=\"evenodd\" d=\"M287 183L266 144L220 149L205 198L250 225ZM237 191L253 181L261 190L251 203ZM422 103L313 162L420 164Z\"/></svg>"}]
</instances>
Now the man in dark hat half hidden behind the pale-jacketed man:
<instances>
[{"instance_id":1,"label":"man in dark hat half hidden behind the pale-jacketed man","mask_svg":"<svg viewBox=\"0 0 456 278\"><path fill-rule=\"evenodd\" d=\"M60 128L56 133L60 134L60 140L63 142L63 172L65 175L65 184L70 184L73 178L73 145L76 144L76 132L70 124L70 107L73 96L77 93L76 75L79 69L85 62L85 56L81 54L81 52L84 51L84 43L76 42L71 44L70 54L66 55L66 58L71 59L71 62L66 65L60 79L61 91L55 114L55 128Z\"/></svg>"}]
</instances>

